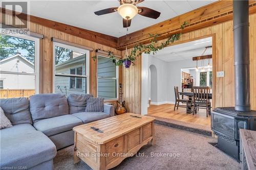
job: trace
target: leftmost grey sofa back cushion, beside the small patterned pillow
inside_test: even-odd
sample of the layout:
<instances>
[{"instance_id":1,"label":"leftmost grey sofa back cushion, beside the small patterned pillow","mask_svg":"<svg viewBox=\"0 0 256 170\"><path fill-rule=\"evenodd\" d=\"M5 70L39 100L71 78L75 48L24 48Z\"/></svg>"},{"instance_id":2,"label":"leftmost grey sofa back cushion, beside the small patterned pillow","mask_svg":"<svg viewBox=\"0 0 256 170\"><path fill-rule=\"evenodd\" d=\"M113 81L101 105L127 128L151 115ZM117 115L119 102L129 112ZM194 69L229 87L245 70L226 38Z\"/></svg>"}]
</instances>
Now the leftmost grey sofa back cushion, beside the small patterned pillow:
<instances>
[{"instance_id":1,"label":"leftmost grey sofa back cushion, beside the small patterned pillow","mask_svg":"<svg viewBox=\"0 0 256 170\"><path fill-rule=\"evenodd\" d=\"M0 99L0 107L12 125L32 124L28 98Z\"/></svg>"}]
</instances>

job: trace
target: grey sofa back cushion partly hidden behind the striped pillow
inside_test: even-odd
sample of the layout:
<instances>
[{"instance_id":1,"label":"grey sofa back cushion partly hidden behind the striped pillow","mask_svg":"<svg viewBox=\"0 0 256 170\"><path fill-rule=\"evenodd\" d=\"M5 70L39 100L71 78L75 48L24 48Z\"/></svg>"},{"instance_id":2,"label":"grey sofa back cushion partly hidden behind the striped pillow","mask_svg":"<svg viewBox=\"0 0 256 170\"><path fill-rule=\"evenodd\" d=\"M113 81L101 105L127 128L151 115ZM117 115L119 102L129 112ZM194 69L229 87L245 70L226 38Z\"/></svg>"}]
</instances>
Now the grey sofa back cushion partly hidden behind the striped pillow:
<instances>
[{"instance_id":1,"label":"grey sofa back cushion partly hidden behind the striped pillow","mask_svg":"<svg viewBox=\"0 0 256 170\"><path fill-rule=\"evenodd\" d=\"M69 94L69 114L84 111L86 109L87 98L92 96L92 94Z\"/></svg>"}]
</instances>

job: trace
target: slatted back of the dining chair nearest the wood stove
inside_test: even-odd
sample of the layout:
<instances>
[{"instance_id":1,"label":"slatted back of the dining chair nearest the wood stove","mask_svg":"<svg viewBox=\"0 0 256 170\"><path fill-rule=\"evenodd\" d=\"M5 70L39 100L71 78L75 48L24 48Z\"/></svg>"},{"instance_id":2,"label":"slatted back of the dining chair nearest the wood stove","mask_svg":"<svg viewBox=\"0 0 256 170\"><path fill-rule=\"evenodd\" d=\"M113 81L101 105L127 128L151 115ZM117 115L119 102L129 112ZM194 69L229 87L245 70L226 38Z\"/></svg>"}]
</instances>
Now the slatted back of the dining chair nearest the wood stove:
<instances>
[{"instance_id":1,"label":"slatted back of the dining chair nearest the wood stove","mask_svg":"<svg viewBox=\"0 0 256 170\"><path fill-rule=\"evenodd\" d=\"M193 87L193 93L194 93L194 101L196 102L208 102L208 94L210 92L210 88L207 87L201 87L201 86L194 86Z\"/></svg>"}]
</instances>

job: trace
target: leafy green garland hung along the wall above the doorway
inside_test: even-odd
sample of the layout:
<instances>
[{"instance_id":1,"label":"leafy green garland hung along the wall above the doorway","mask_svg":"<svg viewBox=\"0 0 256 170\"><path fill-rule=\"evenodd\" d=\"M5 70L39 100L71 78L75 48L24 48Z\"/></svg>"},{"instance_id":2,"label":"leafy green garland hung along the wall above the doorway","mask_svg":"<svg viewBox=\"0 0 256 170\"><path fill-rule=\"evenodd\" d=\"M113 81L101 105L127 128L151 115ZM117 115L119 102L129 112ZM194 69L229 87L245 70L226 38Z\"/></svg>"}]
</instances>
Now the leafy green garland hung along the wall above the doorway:
<instances>
[{"instance_id":1,"label":"leafy green garland hung along the wall above the doorway","mask_svg":"<svg viewBox=\"0 0 256 170\"><path fill-rule=\"evenodd\" d=\"M183 25L180 26L181 30L185 28L185 26L188 24L188 22L184 22ZM166 47L168 44L173 43L177 40L180 39L182 33L177 33L169 38L165 42L162 42L161 45L157 46L157 37L159 36L158 34L156 35L151 35L150 37L153 37L150 44L147 45L142 45L142 44L136 44L133 47L133 50L131 51L130 55L125 56L123 59L116 59L115 55L112 52L109 52L109 58L113 60L113 63L115 63L117 66L122 65L125 60L130 60L132 64L134 65L134 62L136 61L136 58L139 57L142 53L145 54L153 54L155 55L159 50L162 50L164 47ZM95 60L96 56L93 57Z\"/></svg>"}]
</instances>

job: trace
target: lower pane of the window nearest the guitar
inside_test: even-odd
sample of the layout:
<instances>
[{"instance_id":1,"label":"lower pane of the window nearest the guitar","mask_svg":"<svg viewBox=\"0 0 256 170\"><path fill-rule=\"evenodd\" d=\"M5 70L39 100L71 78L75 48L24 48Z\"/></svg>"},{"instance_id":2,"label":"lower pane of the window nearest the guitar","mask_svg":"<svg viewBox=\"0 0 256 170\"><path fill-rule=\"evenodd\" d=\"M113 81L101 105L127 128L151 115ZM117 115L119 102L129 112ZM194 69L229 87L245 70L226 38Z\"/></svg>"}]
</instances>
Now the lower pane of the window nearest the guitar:
<instances>
[{"instance_id":1,"label":"lower pane of the window nearest the guitar","mask_svg":"<svg viewBox=\"0 0 256 170\"><path fill-rule=\"evenodd\" d=\"M98 79L98 97L107 99L115 99L116 92L116 80Z\"/></svg>"}]
</instances>

